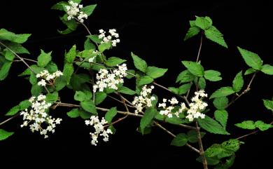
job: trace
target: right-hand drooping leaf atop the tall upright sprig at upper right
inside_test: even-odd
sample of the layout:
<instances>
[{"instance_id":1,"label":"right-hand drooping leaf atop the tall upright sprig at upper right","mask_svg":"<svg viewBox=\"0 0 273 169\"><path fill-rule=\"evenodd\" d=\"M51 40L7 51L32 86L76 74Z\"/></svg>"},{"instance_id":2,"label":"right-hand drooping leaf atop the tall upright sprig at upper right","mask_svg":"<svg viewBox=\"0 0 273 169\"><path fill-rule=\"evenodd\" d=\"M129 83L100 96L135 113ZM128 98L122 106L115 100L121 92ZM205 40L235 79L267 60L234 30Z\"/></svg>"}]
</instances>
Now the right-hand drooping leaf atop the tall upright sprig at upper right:
<instances>
[{"instance_id":1,"label":"right-hand drooping leaf atop the tall upright sprig at upper right","mask_svg":"<svg viewBox=\"0 0 273 169\"><path fill-rule=\"evenodd\" d=\"M224 46L225 48L228 48L228 45L225 43L223 38L223 34L216 27L211 26L209 29L205 30L204 34L207 39L214 41L219 45Z\"/></svg>"}]
</instances>

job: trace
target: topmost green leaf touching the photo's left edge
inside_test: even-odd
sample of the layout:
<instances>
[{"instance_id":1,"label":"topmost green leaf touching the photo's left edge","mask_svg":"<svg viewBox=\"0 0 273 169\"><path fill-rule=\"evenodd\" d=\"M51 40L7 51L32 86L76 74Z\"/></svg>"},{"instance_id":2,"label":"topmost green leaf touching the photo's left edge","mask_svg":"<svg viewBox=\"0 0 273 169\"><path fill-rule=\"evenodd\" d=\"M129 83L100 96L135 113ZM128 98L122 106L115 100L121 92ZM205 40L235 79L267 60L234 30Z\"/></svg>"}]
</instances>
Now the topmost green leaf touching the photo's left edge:
<instances>
[{"instance_id":1,"label":"topmost green leaf touching the photo's left edge","mask_svg":"<svg viewBox=\"0 0 273 169\"><path fill-rule=\"evenodd\" d=\"M12 41L15 43L25 43L31 34L14 34L6 29L0 29L0 40Z\"/></svg>"}]
</instances>

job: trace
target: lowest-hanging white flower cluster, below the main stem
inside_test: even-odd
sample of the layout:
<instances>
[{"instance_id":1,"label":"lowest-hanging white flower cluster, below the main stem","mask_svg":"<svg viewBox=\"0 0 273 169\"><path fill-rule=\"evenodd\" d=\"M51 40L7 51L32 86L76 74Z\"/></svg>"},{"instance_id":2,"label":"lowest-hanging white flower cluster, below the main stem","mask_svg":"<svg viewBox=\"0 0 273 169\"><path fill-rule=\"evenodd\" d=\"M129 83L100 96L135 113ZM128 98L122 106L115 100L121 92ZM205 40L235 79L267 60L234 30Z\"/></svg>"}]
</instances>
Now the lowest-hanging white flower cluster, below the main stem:
<instances>
[{"instance_id":1,"label":"lowest-hanging white flower cluster, below the main stem","mask_svg":"<svg viewBox=\"0 0 273 169\"><path fill-rule=\"evenodd\" d=\"M94 133L90 133L91 137L92 137L92 141L91 144L97 146L97 138L99 137L99 135L103 136L104 138L102 140L104 140L104 142L108 142L109 141L109 135L108 134L112 134L112 131L110 129L105 130L104 129L104 124L106 124L107 121L104 119L104 117L102 118L102 121L99 121L99 116L91 116L90 120L85 120L85 124L88 126L94 126Z\"/></svg>"}]
</instances>

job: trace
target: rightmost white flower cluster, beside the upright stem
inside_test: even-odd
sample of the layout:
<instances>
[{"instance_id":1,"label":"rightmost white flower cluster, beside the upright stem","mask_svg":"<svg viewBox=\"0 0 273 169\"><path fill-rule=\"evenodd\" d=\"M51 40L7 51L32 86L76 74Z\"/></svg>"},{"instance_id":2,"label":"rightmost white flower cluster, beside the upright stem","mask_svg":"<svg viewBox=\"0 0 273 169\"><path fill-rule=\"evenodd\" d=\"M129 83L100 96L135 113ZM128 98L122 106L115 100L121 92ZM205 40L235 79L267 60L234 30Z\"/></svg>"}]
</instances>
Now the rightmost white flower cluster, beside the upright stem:
<instances>
[{"instance_id":1,"label":"rightmost white flower cluster, beside the upright stem","mask_svg":"<svg viewBox=\"0 0 273 169\"><path fill-rule=\"evenodd\" d=\"M201 113L208 104L206 102L203 102L202 99L204 97L207 97L208 95L204 93L204 90L199 90L195 92L195 96L191 99L192 102L190 103L190 109L188 109L186 118L189 121L193 121L193 119L201 118L204 119L205 115Z\"/></svg>"}]
</instances>

